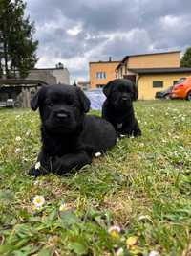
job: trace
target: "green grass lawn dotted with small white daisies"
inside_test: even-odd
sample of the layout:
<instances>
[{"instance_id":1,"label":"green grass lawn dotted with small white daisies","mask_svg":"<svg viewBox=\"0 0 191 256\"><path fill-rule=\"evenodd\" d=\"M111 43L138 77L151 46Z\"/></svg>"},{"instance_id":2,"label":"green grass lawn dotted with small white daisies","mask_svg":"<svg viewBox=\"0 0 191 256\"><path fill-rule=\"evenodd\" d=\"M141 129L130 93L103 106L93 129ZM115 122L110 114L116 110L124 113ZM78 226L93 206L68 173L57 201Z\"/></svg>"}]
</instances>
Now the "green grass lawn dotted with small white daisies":
<instances>
[{"instance_id":1,"label":"green grass lawn dotted with small white daisies","mask_svg":"<svg viewBox=\"0 0 191 256\"><path fill-rule=\"evenodd\" d=\"M135 108L141 137L78 173L36 179L38 113L0 110L0 255L190 255L191 105Z\"/></svg>"}]
</instances>

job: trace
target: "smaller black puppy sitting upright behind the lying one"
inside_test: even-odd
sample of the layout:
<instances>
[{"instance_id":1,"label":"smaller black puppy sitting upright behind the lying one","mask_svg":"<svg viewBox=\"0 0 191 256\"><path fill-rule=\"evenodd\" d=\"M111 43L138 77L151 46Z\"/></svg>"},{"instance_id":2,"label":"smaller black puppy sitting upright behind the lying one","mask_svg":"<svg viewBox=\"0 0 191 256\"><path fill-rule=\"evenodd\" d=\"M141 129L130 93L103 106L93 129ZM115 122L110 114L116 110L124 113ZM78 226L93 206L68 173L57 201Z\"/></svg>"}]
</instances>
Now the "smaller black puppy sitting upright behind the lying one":
<instances>
[{"instance_id":1,"label":"smaller black puppy sitting upright behind the lying one","mask_svg":"<svg viewBox=\"0 0 191 256\"><path fill-rule=\"evenodd\" d=\"M133 107L133 101L138 99L136 85L130 80L116 79L104 86L103 93L107 99L102 106L102 117L114 126L118 136L140 136Z\"/></svg>"}]
</instances>

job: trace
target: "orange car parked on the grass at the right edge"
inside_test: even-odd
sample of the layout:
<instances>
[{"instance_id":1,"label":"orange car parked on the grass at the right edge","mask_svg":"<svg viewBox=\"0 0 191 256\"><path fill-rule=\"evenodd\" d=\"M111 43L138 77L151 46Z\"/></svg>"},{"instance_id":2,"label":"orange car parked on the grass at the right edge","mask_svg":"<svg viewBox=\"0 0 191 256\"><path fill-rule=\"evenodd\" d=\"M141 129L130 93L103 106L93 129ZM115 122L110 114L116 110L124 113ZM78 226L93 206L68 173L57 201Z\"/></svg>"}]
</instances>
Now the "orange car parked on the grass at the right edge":
<instances>
[{"instance_id":1,"label":"orange car parked on the grass at the right edge","mask_svg":"<svg viewBox=\"0 0 191 256\"><path fill-rule=\"evenodd\" d=\"M173 86L170 97L172 99L186 99L191 101L191 77L181 78Z\"/></svg>"}]
</instances>

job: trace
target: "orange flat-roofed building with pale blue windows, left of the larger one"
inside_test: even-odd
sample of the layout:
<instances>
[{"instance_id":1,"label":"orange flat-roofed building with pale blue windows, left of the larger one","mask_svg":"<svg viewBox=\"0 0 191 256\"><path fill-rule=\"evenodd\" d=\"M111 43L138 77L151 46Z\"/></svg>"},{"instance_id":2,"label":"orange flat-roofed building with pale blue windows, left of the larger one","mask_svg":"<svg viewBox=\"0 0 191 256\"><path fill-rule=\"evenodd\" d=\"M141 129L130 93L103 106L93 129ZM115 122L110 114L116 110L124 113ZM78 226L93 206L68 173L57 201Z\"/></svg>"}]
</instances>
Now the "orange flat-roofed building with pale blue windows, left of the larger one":
<instances>
[{"instance_id":1,"label":"orange flat-roofed building with pale blue windows, left of the larger one","mask_svg":"<svg viewBox=\"0 0 191 256\"><path fill-rule=\"evenodd\" d=\"M102 88L108 81L117 78L116 68L120 61L98 61L89 63L90 89Z\"/></svg>"}]
</instances>

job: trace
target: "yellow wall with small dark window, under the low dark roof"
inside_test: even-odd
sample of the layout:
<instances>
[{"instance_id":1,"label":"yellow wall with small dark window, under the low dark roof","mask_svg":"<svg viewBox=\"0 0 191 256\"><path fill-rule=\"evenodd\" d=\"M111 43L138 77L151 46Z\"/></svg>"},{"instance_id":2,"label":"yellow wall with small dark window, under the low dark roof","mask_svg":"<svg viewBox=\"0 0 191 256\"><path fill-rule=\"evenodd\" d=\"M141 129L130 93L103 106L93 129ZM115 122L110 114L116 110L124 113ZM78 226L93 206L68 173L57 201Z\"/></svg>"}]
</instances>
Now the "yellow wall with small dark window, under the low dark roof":
<instances>
[{"instance_id":1,"label":"yellow wall with small dark window, under the low dark roof","mask_svg":"<svg viewBox=\"0 0 191 256\"><path fill-rule=\"evenodd\" d=\"M139 75L138 100L154 100L157 91L162 91L173 85L173 81L179 81L180 78L188 76L191 76L191 73ZM163 87L153 88L153 81L163 81Z\"/></svg>"}]
</instances>

